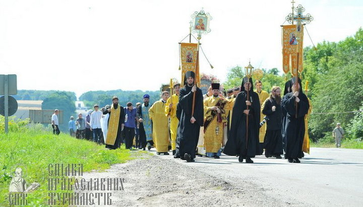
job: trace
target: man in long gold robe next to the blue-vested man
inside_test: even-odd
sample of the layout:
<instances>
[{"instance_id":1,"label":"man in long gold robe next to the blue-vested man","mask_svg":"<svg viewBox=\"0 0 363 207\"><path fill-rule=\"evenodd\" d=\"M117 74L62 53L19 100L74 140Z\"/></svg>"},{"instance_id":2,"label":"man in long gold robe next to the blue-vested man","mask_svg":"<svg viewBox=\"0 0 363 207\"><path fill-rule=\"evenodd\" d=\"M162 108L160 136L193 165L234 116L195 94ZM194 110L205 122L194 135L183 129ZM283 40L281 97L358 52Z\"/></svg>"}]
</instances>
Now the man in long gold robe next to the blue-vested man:
<instances>
[{"instance_id":1,"label":"man in long gold robe next to the blue-vested man","mask_svg":"<svg viewBox=\"0 0 363 207\"><path fill-rule=\"evenodd\" d=\"M169 155L169 122L168 117L165 116L165 106L168 98L169 92L162 92L161 100L155 102L149 109L149 117L153 121L152 136L158 155L161 153Z\"/></svg>"}]
</instances>

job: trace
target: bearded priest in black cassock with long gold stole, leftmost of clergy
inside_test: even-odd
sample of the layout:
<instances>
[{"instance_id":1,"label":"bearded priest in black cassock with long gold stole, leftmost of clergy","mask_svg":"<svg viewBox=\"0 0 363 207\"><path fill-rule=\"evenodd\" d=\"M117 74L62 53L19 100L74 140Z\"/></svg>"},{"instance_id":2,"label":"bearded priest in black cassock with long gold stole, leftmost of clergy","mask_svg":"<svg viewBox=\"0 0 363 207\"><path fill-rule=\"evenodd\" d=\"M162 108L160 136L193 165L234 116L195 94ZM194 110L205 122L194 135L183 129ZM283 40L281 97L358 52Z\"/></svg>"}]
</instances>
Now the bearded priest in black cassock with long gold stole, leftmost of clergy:
<instances>
[{"instance_id":1,"label":"bearded priest in black cassock with long gold stole, leftmost of clergy","mask_svg":"<svg viewBox=\"0 0 363 207\"><path fill-rule=\"evenodd\" d=\"M116 112L117 115L112 114ZM109 113L110 117L107 120L108 130L107 130L107 139L105 141L106 148L115 150L120 147L120 143L122 141L122 130L124 129L125 126L124 107L118 104L118 98L114 96L112 97L112 107L110 109L105 109L104 111L102 111L102 113L103 114ZM116 117L113 118L114 116Z\"/></svg>"}]
</instances>

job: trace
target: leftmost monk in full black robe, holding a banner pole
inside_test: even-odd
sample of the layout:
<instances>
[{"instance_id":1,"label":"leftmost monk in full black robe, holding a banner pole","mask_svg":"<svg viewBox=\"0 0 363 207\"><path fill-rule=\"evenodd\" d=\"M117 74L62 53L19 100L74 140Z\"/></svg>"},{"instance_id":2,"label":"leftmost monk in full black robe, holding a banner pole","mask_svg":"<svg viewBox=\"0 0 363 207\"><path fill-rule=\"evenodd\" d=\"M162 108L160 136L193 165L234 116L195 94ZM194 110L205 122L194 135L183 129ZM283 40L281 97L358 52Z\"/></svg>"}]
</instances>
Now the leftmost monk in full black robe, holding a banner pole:
<instances>
[{"instance_id":1,"label":"leftmost monk in full black robe, holding a banner pole","mask_svg":"<svg viewBox=\"0 0 363 207\"><path fill-rule=\"evenodd\" d=\"M195 93L194 114L192 114L193 93ZM195 85L195 74L188 71L184 78L184 88L179 95L180 121L177 130L179 155L182 160L194 162L200 127L203 126L203 94Z\"/></svg>"}]
</instances>

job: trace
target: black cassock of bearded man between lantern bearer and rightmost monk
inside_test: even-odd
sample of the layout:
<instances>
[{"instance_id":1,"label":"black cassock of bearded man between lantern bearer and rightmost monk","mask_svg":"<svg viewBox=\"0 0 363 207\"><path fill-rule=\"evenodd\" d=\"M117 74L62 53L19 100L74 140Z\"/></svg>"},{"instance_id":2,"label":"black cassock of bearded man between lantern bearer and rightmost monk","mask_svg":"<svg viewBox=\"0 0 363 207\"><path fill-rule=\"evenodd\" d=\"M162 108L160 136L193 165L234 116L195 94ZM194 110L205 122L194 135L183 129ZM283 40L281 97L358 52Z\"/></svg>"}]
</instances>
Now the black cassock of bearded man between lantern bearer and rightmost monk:
<instances>
[{"instance_id":1,"label":"black cassock of bearded man between lantern bearer and rightmost monk","mask_svg":"<svg viewBox=\"0 0 363 207\"><path fill-rule=\"evenodd\" d=\"M276 107L275 111L272 111L272 106ZM266 123L267 128L264 140L264 148L266 149L265 156L279 156L283 154L281 133L281 105L280 103L276 103L276 100L274 98L268 98L265 102L264 108L262 109L262 113L269 118Z\"/></svg>"}]
</instances>

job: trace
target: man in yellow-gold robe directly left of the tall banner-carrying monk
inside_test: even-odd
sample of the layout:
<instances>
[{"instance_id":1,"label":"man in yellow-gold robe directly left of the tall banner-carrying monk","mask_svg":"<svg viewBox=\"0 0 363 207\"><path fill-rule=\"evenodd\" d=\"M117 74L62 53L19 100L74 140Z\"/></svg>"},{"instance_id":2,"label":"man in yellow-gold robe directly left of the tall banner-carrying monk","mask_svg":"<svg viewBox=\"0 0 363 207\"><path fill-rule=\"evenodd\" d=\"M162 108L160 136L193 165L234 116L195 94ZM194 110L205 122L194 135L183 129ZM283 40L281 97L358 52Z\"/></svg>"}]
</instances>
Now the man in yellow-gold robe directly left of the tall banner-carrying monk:
<instances>
[{"instance_id":1,"label":"man in yellow-gold robe directly left of the tall banner-carrying monk","mask_svg":"<svg viewBox=\"0 0 363 207\"><path fill-rule=\"evenodd\" d=\"M175 155L177 125L179 123L179 120L176 118L176 106L179 103L180 84L174 84L173 90L175 94L170 96L166 101L165 116L170 117L171 150L173 155Z\"/></svg>"}]
</instances>

